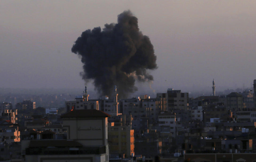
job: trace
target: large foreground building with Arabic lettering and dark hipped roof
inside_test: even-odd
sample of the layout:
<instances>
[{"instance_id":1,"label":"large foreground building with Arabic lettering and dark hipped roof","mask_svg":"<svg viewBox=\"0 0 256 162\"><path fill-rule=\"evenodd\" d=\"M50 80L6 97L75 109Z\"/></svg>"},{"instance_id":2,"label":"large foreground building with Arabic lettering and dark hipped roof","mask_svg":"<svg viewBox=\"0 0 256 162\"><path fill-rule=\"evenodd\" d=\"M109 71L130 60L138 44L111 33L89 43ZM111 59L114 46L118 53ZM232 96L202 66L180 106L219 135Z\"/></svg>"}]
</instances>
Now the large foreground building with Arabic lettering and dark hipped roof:
<instances>
[{"instance_id":1,"label":"large foreground building with Arabic lettering and dark hipped roof","mask_svg":"<svg viewBox=\"0 0 256 162\"><path fill-rule=\"evenodd\" d=\"M108 162L110 115L95 109L73 110L63 114L67 140L25 140L25 161Z\"/></svg>"}]
</instances>

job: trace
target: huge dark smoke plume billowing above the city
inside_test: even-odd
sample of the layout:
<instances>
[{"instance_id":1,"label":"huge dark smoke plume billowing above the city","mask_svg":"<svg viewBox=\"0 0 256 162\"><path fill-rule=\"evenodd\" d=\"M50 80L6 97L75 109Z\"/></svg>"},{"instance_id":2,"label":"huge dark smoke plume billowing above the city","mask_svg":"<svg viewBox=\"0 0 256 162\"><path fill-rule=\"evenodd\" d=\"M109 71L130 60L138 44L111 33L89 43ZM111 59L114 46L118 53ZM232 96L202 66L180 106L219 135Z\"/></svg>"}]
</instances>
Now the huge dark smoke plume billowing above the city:
<instances>
[{"instance_id":1,"label":"huge dark smoke plume billowing above the city","mask_svg":"<svg viewBox=\"0 0 256 162\"><path fill-rule=\"evenodd\" d=\"M149 38L138 28L138 19L124 11L117 24L105 24L82 32L72 47L84 63L84 80L93 79L102 95L112 95L117 86L119 97L137 91L135 79L152 82L147 69L156 69L156 55Z\"/></svg>"}]
</instances>

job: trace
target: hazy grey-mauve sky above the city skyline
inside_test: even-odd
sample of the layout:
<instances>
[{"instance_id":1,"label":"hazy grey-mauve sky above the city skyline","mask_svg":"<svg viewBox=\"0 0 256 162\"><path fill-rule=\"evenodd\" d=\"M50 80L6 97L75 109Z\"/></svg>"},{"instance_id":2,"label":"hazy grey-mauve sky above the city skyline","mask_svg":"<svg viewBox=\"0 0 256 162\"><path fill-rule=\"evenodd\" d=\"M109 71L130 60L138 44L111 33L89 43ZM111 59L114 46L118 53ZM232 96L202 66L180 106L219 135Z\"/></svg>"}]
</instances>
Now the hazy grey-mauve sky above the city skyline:
<instances>
[{"instance_id":1,"label":"hazy grey-mauve sky above the city skyline","mask_svg":"<svg viewBox=\"0 0 256 162\"><path fill-rule=\"evenodd\" d=\"M86 29L116 23L128 9L154 46L158 69L151 74L157 92L211 91L213 78L216 91L251 87L255 8L256 1L233 0L0 0L0 87L83 89L82 63L71 52L74 41Z\"/></svg>"}]
</instances>

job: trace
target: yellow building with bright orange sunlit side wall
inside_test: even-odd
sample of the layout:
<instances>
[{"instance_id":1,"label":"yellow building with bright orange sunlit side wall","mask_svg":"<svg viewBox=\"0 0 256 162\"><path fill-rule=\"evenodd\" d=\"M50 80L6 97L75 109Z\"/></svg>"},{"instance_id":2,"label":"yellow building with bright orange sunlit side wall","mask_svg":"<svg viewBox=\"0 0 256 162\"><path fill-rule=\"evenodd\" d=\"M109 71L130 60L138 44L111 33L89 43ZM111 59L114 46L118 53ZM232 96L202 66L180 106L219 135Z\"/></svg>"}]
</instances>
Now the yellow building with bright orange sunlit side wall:
<instances>
[{"instance_id":1,"label":"yellow building with bright orange sunlit side wall","mask_svg":"<svg viewBox=\"0 0 256 162\"><path fill-rule=\"evenodd\" d=\"M134 130L121 123L108 123L108 144L110 154L134 155Z\"/></svg>"}]
</instances>

